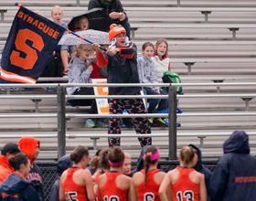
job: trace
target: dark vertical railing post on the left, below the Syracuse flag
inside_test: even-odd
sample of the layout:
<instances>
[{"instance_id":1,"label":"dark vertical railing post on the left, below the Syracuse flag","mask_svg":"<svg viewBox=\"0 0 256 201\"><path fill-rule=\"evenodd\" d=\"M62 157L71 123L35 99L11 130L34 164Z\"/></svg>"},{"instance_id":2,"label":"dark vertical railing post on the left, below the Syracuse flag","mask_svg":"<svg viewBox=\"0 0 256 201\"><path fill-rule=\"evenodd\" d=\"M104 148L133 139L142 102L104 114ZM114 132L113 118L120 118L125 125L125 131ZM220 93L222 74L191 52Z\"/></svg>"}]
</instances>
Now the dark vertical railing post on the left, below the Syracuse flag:
<instances>
[{"instance_id":1,"label":"dark vertical railing post on the left, below the Syracuse flag","mask_svg":"<svg viewBox=\"0 0 256 201\"><path fill-rule=\"evenodd\" d=\"M65 88L58 87L58 159L66 154Z\"/></svg>"}]
</instances>

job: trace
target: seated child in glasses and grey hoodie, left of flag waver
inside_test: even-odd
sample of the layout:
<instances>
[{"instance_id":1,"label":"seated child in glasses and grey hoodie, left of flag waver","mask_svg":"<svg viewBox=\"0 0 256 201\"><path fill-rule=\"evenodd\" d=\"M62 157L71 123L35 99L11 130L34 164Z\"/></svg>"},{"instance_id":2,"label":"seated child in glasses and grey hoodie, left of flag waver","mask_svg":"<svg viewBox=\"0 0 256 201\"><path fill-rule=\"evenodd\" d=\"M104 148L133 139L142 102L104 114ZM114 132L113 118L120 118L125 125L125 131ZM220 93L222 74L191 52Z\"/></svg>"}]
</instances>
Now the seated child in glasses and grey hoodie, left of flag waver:
<instances>
[{"instance_id":1,"label":"seated child in glasses and grey hoodie, left of flag waver","mask_svg":"<svg viewBox=\"0 0 256 201\"><path fill-rule=\"evenodd\" d=\"M72 58L69 63L69 83L91 83L91 72L93 67L89 60L87 60L91 53L91 45L80 44L76 57ZM69 95L94 95L94 90L91 87L73 87L67 88ZM90 105L90 113L98 113L95 99L93 100L69 100L72 106L75 105ZM107 127L108 124L103 120L96 120L93 122L88 119L85 122L85 128L93 127Z\"/></svg>"}]
</instances>

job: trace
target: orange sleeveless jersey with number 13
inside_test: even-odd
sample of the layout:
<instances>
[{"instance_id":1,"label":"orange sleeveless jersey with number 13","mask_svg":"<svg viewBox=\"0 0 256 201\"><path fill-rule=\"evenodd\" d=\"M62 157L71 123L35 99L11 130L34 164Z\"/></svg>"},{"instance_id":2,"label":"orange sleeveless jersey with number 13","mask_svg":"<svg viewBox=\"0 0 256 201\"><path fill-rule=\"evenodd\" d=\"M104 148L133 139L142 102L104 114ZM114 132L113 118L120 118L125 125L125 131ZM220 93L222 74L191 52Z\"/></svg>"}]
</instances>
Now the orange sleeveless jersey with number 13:
<instances>
[{"instance_id":1,"label":"orange sleeveless jersey with number 13","mask_svg":"<svg viewBox=\"0 0 256 201\"><path fill-rule=\"evenodd\" d=\"M174 201L199 201L199 184L189 179L189 174L196 170L186 167L176 167L176 170L179 171L180 176L176 184L171 185Z\"/></svg>"}]
</instances>

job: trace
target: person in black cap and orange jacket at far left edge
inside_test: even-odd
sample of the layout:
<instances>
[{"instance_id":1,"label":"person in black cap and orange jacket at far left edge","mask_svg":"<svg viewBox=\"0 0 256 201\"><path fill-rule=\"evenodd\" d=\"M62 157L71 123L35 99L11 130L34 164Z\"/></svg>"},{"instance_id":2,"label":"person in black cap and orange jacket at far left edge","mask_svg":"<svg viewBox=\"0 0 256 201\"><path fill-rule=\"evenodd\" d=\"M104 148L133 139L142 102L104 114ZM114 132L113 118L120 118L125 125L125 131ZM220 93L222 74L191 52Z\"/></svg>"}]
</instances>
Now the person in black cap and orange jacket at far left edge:
<instances>
[{"instance_id":1,"label":"person in black cap and orange jacket at far left edge","mask_svg":"<svg viewBox=\"0 0 256 201\"><path fill-rule=\"evenodd\" d=\"M15 172L14 168L10 166L8 160L15 157L20 150L16 143L6 143L1 151L0 156L0 184L2 184L5 179Z\"/></svg>"}]
</instances>

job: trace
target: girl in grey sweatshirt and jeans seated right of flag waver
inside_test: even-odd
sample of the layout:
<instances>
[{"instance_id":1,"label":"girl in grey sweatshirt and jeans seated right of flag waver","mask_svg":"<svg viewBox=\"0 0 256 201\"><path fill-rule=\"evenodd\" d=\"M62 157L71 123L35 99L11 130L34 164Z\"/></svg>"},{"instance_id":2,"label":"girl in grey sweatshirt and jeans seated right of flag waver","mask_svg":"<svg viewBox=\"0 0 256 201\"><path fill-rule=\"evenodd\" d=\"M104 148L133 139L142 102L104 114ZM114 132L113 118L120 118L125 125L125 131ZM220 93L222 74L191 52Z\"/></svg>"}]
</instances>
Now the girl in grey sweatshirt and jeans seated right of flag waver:
<instances>
[{"instance_id":1,"label":"girl in grey sweatshirt and jeans seated right of flag waver","mask_svg":"<svg viewBox=\"0 0 256 201\"><path fill-rule=\"evenodd\" d=\"M154 46L150 42L143 45L142 54L138 55L137 67L141 83L158 83L155 71L155 62L152 60L154 54ZM144 87L147 95L168 95L160 87ZM157 111L165 111L168 109L168 99L151 99L149 100L148 112L154 113L156 106ZM156 127L168 126L168 121L162 118L150 118L149 122L155 124Z\"/></svg>"}]
</instances>

